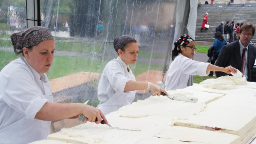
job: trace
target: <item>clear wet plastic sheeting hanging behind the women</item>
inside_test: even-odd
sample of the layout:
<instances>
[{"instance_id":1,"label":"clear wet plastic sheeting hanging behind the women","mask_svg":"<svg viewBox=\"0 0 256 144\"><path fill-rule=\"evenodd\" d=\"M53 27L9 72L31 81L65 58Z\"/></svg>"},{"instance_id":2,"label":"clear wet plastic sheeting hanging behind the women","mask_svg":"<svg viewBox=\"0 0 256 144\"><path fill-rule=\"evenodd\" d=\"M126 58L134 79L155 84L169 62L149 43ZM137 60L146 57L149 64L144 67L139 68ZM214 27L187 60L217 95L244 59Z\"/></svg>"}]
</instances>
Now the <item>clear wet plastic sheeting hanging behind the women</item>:
<instances>
[{"instance_id":1,"label":"clear wet plastic sheeting hanging behind the women","mask_svg":"<svg viewBox=\"0 0 256 144\"><path fill-rule=\"evenodd\" d=\"M55 58L47 73L59 103L87 100L97 106L97 85L110 60L117 58L113 39L134 37L139 56L130 65L137 81L162 85L169 66L176 24L177 0L41 0L41 26L55 38ZM0 10L0 69L17 58L10 34L26 27L26 1L3 1ZM150 93L137 91L135 101ZM52 132L85 122L65 119Z\"/></svg>"}]
</instances>

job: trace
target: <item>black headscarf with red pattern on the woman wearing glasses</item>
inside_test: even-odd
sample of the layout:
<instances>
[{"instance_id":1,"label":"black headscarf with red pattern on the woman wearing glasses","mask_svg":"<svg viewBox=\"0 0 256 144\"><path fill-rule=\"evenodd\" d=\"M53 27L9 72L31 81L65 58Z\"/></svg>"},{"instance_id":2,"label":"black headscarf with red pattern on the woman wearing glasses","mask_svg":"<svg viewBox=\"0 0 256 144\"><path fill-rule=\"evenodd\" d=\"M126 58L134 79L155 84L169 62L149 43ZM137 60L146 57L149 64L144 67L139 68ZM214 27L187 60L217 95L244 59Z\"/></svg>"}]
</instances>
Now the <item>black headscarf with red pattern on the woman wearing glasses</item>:
<instances>
[{"instance_id":1,"label":"black headscarf with red pattern on the woman wearing glasses","mask_svg":"<svg viewBox=\"0 0 256 144\"><path fill-rule=\"evenodd\" d=\"M172 50L172 60L181 53L180 47L186 47L189 42L194 41L194 39L187 34L183 34L177 41L174 42L174 50Z\"/></svg>"}]
</instances>

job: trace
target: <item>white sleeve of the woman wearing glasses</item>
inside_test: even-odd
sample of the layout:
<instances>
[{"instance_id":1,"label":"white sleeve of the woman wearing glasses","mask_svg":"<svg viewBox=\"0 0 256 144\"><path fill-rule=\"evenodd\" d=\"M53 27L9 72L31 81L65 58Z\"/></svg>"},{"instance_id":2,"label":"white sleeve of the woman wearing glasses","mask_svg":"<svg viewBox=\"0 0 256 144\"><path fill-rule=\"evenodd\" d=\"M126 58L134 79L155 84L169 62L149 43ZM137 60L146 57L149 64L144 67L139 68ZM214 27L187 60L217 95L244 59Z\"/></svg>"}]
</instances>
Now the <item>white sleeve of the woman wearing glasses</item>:
<instances>
[{"instance_id":1,"label":"white sleeve of the woman wearing glasses","mask_svg":"<svg viewBox=\"0 0 256 144\"><path fill-rule=\"evenodd\" d=\"M182 58L182 72L187 75L206 76L209 63L198 62L189 58Z\"/></svg>"}]
</instances>

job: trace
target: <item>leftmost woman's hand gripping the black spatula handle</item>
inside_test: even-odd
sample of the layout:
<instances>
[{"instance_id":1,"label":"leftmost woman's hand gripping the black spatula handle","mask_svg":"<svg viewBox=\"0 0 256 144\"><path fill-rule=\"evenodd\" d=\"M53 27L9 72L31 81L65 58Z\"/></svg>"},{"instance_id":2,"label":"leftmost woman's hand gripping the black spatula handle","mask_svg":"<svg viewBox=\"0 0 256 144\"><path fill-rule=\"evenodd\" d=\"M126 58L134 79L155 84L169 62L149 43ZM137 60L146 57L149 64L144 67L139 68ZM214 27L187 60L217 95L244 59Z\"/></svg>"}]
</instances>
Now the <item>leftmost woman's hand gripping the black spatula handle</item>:
<instances>
[{"instance_id":1,"label":"leftmost woman's hand gripping the black spatula handle","mask_svg":"<svg viewBox=\"0 0 256 144\"><path fill-rule=\"evenodd\" d=\"M89 122L95 122L96 124L99 124L101 122L101 119L103 119L105 123L108 124L108 121L105 118L104 114L101 112L101 110L93 106L84 105L84 107L82 108L82 114ZM98 119L98 121L95 121L96 118Z\"/></svg>"}]
</instances>

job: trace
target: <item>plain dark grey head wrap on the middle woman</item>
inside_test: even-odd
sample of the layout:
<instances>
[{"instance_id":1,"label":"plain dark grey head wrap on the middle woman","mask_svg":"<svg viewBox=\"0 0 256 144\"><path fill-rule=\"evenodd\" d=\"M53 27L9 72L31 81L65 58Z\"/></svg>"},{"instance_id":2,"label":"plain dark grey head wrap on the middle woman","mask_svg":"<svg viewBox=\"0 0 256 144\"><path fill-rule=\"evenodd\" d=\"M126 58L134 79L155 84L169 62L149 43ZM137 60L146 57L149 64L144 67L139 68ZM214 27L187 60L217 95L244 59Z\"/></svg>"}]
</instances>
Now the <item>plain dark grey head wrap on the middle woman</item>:
<instances>
[{"instance_id":1,"label":"plain dark grey head wrap on the middle woman","mask_svg":"<svg viewBox=\"0 0 256 144\"><path fill-rule=\"evenodd\" d=\"M114 49L118 52L118 49L123 48L129 41L135 40L133 37L129 35L123 35L114 38Z\"/></svg>"}]
</instances>

